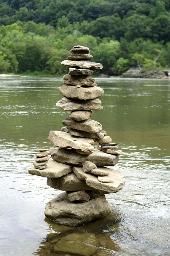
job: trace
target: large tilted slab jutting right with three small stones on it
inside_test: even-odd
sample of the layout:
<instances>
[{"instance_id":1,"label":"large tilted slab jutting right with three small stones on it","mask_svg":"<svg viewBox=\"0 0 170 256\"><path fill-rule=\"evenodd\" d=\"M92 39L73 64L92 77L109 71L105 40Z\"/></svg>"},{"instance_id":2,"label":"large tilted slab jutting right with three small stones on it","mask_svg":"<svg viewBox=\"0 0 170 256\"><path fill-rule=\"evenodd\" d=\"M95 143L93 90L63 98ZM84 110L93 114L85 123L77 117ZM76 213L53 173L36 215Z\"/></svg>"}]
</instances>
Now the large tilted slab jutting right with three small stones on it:
<instances>
[{"instance_id":1,"label":"large tilted slab jutting right with three small stones on it","mask_svg":"<svg viewBox=\"0 0 170 256\"><path fill-rule=\"evenodd\" d=\"M122 173L118 172L117 170L109 169L106 167L100 167L99 169L109 173L108 176L101 178L109 178L110 181L112 179L113 183L108 184L107 181L100 182L98 177L90 173L85 173L81 167L74 166L73 172L79 179L84 180L88 186L101 191L105 191L107 193L115 193L123 188L124 179L122 177Z\"/></svg>"}]
</instances>

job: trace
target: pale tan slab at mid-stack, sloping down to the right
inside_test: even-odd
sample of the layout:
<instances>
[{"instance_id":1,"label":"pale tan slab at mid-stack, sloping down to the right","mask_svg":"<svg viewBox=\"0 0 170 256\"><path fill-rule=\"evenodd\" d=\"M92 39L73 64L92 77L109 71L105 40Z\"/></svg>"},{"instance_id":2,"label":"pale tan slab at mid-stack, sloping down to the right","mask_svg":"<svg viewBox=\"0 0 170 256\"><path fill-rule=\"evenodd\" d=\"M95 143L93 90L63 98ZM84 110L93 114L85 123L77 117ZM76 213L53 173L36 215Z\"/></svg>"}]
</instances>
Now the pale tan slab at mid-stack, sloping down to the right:
<instances>
[{"instance_id":1,"label":"pale tan slab at mid-stack, sloping down to the right","mask_svg":"<svg viewBox=\"0 0 170 256\"><path fill-rule=\"evenodd\" d=\"M93 139L75 137L66 132L50 131L48 139L52 141L55 146L61 148L75 148L83 150L84 152L93 151L94 149Z\"/></svg>"}]
</instances>

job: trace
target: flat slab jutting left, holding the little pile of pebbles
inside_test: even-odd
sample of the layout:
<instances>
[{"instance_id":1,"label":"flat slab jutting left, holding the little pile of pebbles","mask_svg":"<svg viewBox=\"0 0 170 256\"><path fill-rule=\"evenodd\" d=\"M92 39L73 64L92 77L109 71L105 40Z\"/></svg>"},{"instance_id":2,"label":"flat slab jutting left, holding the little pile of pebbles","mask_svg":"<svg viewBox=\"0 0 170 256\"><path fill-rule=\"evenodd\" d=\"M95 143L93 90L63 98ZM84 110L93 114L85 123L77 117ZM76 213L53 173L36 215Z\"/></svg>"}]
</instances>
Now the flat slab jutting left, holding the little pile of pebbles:
<instances>
[{"instance_id":1,"label":"flat slab jutting left, holding the little pile of pebbles","mask_svg":"<svg viewBox=\"0 0 170 256\"><path fill-rule=\"evenodd\" d=\"M72 166L67 164L61 164L54 160L50 160L47 163L47 168L44 170L38 170L36 167L29 168L28 172L32 175L47 177L47 178L59 178L63 175L72 172ZM41 167L41 166L39 166ZM43 166L42 166L43 167Z\"/></svg>"}]
</instances>

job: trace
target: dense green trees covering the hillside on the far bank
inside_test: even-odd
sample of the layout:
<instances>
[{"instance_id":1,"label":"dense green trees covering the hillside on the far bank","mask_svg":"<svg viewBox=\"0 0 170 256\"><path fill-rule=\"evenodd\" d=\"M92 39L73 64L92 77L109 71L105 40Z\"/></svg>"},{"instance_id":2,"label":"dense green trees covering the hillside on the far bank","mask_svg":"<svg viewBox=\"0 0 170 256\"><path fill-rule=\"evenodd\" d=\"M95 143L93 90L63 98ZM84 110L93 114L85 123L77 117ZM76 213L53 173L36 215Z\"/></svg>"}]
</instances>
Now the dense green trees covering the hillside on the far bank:
<instances>
[{"instance_id":1,"label":"dense green trees covering the hillside on the far bank","mask_svg":"<svg viewBox=\"0 0 170 256\"><path fill-rule=\"evenodd\" d=\"M0 73L64 73L77 44L103 73L168 68L170 1L0 0Z\"/></svg>"}]
</instances>

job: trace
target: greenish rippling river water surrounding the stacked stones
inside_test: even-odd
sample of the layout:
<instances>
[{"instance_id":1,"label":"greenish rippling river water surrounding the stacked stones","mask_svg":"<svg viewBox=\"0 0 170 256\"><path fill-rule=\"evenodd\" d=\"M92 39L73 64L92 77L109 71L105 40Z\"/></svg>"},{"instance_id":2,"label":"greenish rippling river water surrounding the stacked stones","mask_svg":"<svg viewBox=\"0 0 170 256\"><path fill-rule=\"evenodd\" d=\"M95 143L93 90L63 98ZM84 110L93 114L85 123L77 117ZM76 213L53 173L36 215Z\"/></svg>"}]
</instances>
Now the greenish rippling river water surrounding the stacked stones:
<instances>
[{"instance_id":1,"label":"greenish rippling river water surrounding the stacked stones","mask_svg":"<svg viewBox=\"0 0 170 256\"><path fill-rule=\"evenodd\" d=\"M55 107L62 79L0 79L0 256L75 255L53 252L54 239L72 233L104 241L94 256L170 255L170 81L96 82L104 89L103 110L93 119L118 143L114 169L126 184L107 195L109 216L71 228L44 217L45 204L61 191L28 174L38 149L53 146L49 130L60 130L68 116Z\"/></svg>"}]
</instances>

